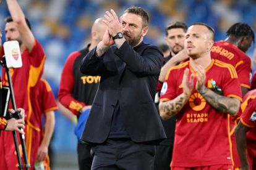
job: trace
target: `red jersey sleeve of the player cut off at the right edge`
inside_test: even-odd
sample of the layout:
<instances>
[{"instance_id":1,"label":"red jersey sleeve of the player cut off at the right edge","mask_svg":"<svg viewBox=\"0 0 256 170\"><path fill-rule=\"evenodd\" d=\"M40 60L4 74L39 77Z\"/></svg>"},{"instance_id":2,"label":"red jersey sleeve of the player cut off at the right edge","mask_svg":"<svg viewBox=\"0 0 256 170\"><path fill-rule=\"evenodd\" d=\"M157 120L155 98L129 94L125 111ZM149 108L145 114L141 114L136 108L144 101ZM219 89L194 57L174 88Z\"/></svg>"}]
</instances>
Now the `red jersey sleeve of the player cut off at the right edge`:
<instances>
[{"instance_id":1,"label":"red jersey sleeve of the player cut off at the right edge","mask_svg":"<svg viewBox=\"0 0 256 170\"><path fill-rule=\"evenodd\" d=\"M251 100L241 115L241 123L247 127L256 126L256 99Z\"/></svg>"}]
</instances>

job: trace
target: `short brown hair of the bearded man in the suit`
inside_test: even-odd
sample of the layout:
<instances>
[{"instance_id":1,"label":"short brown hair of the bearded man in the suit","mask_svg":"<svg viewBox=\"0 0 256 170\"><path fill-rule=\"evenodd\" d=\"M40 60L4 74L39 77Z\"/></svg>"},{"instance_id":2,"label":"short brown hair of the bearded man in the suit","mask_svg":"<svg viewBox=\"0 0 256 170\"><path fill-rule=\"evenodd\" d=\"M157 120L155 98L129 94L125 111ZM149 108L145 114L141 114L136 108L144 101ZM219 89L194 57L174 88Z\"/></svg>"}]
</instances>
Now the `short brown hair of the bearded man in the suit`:
<instances>
[{"instance_id":1,"label":"short brown hair of the bearded man in the suit","mask_svg":"<svg viewBox=\"0 0 256 170\"><path fill-rule=\"evenodd\" d=\"M142 7L129 7L124 11L124 14L126 13L139 15L140 17L142 17L143 27L148 26L149 15L148 12L145 11Z\"/></svg>"}]
</instances>

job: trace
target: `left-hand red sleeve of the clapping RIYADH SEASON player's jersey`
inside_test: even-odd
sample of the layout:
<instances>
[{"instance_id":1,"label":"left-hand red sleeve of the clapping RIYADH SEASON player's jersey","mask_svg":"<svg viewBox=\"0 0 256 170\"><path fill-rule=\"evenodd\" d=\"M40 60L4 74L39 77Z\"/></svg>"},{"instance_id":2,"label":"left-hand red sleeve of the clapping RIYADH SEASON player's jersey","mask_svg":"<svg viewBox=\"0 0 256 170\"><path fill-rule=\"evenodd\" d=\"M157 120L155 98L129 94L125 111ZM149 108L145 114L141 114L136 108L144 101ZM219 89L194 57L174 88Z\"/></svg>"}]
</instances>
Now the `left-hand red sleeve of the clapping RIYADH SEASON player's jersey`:
<instances>
[{"instance_id":1,"label":"left-hand red sleeve of the clapping RIYADH SEASON player's jersey","mask_svg":"<svg viewBox=\"0 0 256 170\"><path fill-rule=\"evenodd\" d=\"M176 83L175 83L174 70L169 70L164 80L163 87L160 92L160 101L165 102L172 100L176 97Z\"/></svg>"}]
</instances>

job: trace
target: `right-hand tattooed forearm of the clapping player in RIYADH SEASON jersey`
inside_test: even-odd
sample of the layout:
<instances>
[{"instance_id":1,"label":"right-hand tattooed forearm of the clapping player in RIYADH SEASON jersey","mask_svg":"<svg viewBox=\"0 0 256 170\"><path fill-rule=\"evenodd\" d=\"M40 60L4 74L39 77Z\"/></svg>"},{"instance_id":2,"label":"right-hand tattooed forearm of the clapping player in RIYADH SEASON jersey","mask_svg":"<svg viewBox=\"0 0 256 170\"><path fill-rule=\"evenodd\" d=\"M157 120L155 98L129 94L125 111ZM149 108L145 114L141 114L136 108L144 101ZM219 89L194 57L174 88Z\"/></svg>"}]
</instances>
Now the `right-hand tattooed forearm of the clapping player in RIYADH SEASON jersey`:
<instances>
[{"instance_id":1,"label":"right-hand tattooed forearm of the clapping player in RIYADH SEASON jersey","mask_svg":"<svg viewBox=\"0 0 256 170\"><path fill-rule=\"evenodd\" d=\"M239 110L240 101L238 99L216 94L205 86L198 92L210 103L211 107L218 111L234 116Z\"/></svg>"}]
</instances>

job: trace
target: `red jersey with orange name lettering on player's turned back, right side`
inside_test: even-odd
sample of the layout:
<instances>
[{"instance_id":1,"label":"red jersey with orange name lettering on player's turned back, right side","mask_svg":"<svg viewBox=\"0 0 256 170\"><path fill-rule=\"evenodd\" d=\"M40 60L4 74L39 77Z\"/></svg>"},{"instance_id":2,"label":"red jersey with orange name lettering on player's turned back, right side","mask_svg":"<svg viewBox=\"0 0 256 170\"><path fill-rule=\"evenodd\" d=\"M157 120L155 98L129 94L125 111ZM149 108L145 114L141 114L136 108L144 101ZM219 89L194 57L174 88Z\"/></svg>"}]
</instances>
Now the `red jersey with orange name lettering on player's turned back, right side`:
<instances>
[{"instance_id":1,"label":"red jersey with orange name lettering on player's turned back, right side","mask_svg":"<svg viewBox=\"0 0 256 170\"><path fill-rule=\"evenodd\" d=\"M252 63L250 57L237 46L228 41L217 41L211 48L211 58L233 65L236 68L240 86L250 89Z\"/></svg>"}]
</instances>

